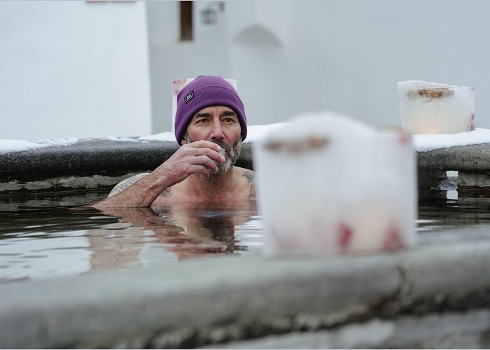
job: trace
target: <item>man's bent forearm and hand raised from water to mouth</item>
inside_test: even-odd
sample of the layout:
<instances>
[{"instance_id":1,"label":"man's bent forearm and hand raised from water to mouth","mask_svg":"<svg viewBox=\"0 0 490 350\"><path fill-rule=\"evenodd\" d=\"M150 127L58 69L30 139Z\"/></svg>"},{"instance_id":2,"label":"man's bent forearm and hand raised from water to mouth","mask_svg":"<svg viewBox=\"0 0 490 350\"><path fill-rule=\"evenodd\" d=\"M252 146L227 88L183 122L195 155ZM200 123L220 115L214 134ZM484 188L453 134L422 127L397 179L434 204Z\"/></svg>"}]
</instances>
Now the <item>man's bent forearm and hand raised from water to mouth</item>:
<instances>
[{"instance_id":1,"label":"man's bent forearm and hand raised from water to mouth","mask_svg":"<svg viewBox=\"0 0 490 350\"><path fill-rule=\"evenodd\" d=\"M128 181L126 188L121 188L120 191L116 189L118 187L116 186L113 189L116 194L109 194L110 197L92 205L92 207L97 209L105 207L149 207L166 188L187 179L188 176L192 174L209 176L209 172L218 172L214 160L225 162L220 151L221 147L210 141L196 141L192 144L183 145L153 172L141 176L136 181ZM123 183L120 183L121 187L124 187Z\"/></svg>"}]
</instances>

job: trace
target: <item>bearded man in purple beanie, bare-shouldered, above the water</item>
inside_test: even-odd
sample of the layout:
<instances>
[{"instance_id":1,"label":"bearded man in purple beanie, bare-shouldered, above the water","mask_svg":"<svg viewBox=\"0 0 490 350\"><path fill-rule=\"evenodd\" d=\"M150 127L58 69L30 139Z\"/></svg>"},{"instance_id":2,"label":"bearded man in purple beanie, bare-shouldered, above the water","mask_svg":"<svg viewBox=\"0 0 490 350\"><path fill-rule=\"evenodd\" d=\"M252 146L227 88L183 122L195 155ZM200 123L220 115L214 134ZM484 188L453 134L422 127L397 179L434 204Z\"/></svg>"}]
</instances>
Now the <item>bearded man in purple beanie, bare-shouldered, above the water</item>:
<instances>
[{"instance_id":1,"label":"bearded man in purple beanie, bare-shouldered, above the water","mask_svg":"<svg viewBox=\"0 0 490 350\"><path fill-rule=\"evenodd\" d=\"M118 183L92 207L253 199L254 173L235 167L246 132L244 105L232 85L219 76L198 76L177 95L179 150L153 172Z\"/></svg>"}]
</instances>

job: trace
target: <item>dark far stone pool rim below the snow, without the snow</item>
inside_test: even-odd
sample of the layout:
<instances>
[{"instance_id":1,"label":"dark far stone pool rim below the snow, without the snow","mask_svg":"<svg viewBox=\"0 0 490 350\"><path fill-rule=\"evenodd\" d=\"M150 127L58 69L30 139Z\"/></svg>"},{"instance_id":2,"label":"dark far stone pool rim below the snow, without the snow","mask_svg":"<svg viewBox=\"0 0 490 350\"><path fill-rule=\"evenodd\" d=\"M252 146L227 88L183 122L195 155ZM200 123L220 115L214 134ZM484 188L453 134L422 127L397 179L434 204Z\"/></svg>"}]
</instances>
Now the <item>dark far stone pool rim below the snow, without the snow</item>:
<instances>
[{"instance_id":1,"label":"dark far stone pool rim below the snow, without the snow","mask_svg":"<svg viewBox=\"0 0 490 350\"><path fill-rule=\"evenodd\" d=\"M252 147L242 144L239 167L253 169ZM170 141L83 139L69 146L0 153L0 195L110 188L133 174L152 171L178 148ZM419 193L447 189L445 172L450 170L463 175L458 183L449 181L450 189L490 189L490 144L417 152L416 158Z\"/></svg>"}]
</instances>

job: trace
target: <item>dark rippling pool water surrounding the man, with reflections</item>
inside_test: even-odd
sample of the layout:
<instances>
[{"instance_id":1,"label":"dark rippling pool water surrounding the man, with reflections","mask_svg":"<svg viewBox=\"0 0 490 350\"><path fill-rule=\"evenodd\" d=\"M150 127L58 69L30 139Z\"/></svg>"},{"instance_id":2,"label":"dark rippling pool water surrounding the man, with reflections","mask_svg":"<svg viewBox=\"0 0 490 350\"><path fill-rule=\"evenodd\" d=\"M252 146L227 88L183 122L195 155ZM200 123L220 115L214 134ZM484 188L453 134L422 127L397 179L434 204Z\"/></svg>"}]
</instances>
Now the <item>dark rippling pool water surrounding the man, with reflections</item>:
<instances>
[{"instance_id":1,"label":"dark rippling pool water surrounding the man, with reflections","mask_svg":"<svg viewBox=\"0 0 490 350\"><path fill-rule=\"evenodd\" d=\"M264 232L255 202L104 213L80 208L107 192L0 196L0 284L262 251ZM421 244L440 232L447 235L450 228L490 223L490 199L444 194L419 204Z\"/></svg>"}]
</instances>

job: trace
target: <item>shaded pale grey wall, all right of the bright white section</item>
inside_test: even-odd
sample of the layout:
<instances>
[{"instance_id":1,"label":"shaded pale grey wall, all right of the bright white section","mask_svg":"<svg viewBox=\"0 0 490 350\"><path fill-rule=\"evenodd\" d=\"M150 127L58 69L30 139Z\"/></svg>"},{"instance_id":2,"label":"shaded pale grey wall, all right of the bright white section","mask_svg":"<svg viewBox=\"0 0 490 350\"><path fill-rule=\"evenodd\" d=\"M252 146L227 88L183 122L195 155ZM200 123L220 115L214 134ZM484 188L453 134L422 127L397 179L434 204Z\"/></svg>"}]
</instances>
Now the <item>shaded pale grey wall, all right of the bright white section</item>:
<instances>
[{"instance_id":1,"label":"shaded pale grey wall, all right of the bright white section","mask_svg":"<svg viewBox=\"0 0 490 350\"><path fill-rule=\"evenodd\" d=\"M490 1L225 1L204 25L218 3L195 1L195 41L158 48L154 132L171 130L172 79L211 73L238 80L249 124L327 109L399 126L396 83L420 79L475 86L477 127L490 128Z\"/></svg>"}]
</instances>

